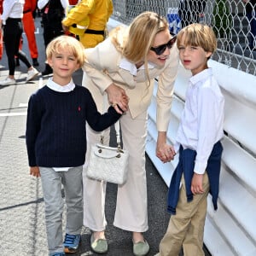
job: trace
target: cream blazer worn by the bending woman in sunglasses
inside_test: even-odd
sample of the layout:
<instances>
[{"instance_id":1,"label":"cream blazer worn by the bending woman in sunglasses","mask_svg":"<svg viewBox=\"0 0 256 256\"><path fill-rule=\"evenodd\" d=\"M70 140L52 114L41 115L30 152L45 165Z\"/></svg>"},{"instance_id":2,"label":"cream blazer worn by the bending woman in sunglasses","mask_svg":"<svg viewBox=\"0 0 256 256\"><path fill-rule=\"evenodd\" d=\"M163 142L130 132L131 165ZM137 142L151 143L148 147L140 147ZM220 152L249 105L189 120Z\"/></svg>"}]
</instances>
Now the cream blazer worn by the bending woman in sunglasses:
<instances>
[{"instance_id":1,"label":"cream blazer worn by the bending woman in sunglasses","mask_svg":"<svg viewBox=\"0 0 256 256\"><path fill-rule=\"evenodd\" d=\"M167 131L178 67L176 45L172 47L164 67L148 67L150 84L145 69L138 69L137 74L133 75L129 70L119 67L123 56L114 47L110 38L96 45L95 48L84 49L84 51L86 61L83 67L83 85L90 90L99 111L103 108L102 95L113 83L123 88L129 96L131 117L136 119L140 113L148 109L154 90L154 79L158 79L156 91L157 129L158 131Z\"/></svg>"}]
</instances>

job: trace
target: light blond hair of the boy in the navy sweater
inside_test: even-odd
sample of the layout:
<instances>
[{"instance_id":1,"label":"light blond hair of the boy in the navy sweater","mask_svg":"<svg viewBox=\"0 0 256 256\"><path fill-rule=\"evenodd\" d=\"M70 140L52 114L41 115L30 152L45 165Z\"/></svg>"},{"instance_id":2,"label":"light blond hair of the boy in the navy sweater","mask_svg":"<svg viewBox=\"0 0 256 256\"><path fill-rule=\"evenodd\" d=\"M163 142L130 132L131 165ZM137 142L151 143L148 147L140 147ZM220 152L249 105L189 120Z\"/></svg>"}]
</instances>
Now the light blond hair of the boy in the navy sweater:
<instances>
[{"instance_id":1,"label":"light blond hair of the boy in the navy sweater","mask_svg":"<svg viewBox=\"0 0 256 256\"><path fill-rule=\"evenodd\" d=\"M46 47L46 57L51 58L54 53L61 53L61 49L69 50L79 63L79 67L84 65L84 46L78 39L70 36L60 36L54 38Z\"/></svg>"}]
</instances>

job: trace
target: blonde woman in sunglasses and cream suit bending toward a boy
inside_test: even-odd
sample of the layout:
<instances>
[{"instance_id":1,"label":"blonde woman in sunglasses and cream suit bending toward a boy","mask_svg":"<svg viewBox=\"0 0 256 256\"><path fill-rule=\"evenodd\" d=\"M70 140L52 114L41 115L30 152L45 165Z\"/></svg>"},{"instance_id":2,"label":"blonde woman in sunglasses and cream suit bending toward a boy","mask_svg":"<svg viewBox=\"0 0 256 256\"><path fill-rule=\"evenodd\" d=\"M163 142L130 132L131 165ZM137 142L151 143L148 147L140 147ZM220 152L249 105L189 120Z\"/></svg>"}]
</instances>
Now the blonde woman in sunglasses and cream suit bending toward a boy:
<instances>
[{"instance_id":1,"label":"blonde woman in sunglasses and cream suit bending toward a boy","mask_svg":"<svg viewBox=\"0 0 256 256\"><path fill-rule=\"evenodd\" d=\"M166 19L154 12L138 15L128 28L118 27L95 48L84 49L83 84L102 110L103 96L116 111L126 111L120 119L123 145L128 150L128 180L119 186L113 224L132 232L134 255L146 255L148 242L143 232L148 230L147 185L145 172L145 143L147 137L147 109L158 77L156 154L163 162L173 158L166 144L166 130L170 119L173 84L177 75L177 48L168 30ZM129 97L125 104L123 96ZM117 106L118 105L118 106ZM87 125L88 151L99 142L99 134ZM109 138L108 138L109 139ZM105 142L106 143L106 142ZM108 143L108 141L107 141ZM87 162L87 161L85 161ZM86 177L84 166L84 225L92 230L90 246L96 253L108 251L104 236L106 183Z\"/></svg>"}]
</instances>

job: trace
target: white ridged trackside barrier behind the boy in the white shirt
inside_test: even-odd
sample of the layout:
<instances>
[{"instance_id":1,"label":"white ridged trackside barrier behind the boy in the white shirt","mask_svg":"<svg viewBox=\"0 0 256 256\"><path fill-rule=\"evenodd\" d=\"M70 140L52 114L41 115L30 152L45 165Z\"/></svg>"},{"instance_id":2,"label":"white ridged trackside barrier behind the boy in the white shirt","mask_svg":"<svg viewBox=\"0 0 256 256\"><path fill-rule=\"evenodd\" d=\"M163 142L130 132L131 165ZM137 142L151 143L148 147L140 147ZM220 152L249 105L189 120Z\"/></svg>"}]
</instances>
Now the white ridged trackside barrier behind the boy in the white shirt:
<instances>
[{"instance_id":1,"label":"white ridged trackside barrier behind the boy in the white shirt","mask_svg":"<svg viewBox=\"0 0 256 256\"><path fill-rule=\"evenodd\" d=\"M225 97L224 153L218 211L208 198L204 242L212 255L256 255L256 78L216 61L209 61ZM169 143L177 132L190 73L179 68L172 102ZM147 154L168 186L177 158L162 164L155 156L157 131L154 98L148 109Z\"/></svg>"}]
</instances>

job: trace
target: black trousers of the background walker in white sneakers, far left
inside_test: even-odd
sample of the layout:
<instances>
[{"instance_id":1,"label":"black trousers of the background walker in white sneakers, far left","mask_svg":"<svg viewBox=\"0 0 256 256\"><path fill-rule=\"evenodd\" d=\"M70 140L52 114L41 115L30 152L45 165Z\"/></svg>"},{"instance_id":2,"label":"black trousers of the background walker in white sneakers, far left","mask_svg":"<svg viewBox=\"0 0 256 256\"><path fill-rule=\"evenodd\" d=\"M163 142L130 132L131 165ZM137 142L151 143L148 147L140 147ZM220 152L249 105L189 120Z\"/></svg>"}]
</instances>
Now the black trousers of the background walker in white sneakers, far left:
<instances>
[{"instance_id":1,"label":"black trousers of the background walker in white sneakers, far left","mask_svg":"<svg viewBox=\"0 0 256 256\"><path fill-rule=\"evenodd\" d=\"M3 41L8 58L9 75L15 74L15 55L25 63L26 67L32 67L27 60L26 54L19 50L22 32L21 19L8 18L6 20L6 25L3 27Z\"/></svg>"}]
</instances>

